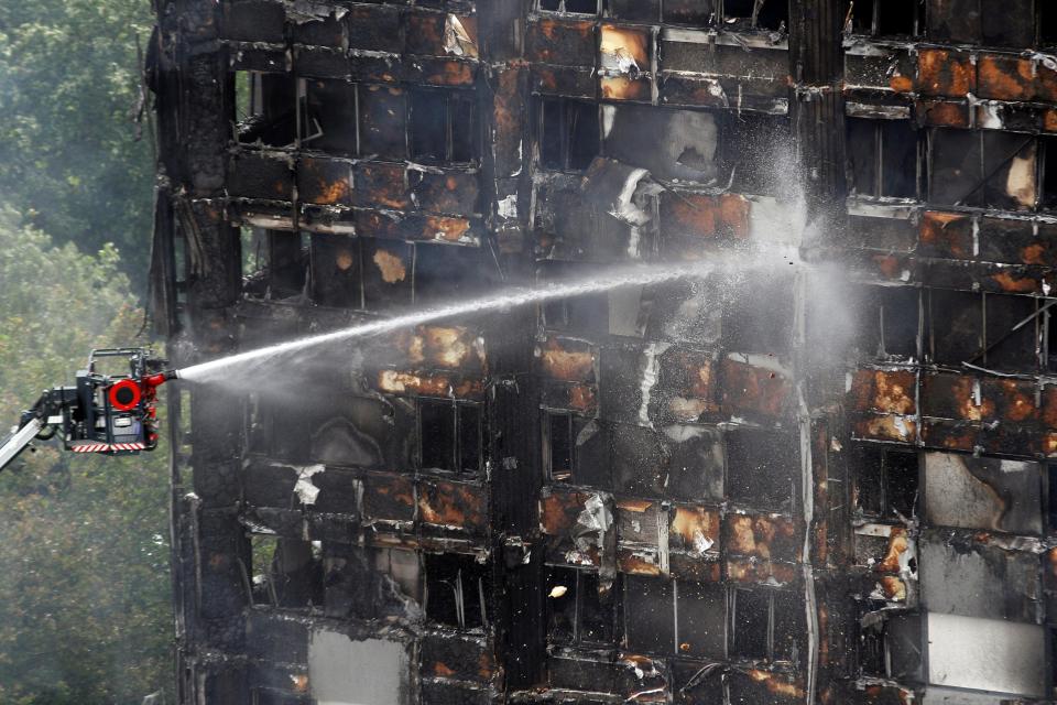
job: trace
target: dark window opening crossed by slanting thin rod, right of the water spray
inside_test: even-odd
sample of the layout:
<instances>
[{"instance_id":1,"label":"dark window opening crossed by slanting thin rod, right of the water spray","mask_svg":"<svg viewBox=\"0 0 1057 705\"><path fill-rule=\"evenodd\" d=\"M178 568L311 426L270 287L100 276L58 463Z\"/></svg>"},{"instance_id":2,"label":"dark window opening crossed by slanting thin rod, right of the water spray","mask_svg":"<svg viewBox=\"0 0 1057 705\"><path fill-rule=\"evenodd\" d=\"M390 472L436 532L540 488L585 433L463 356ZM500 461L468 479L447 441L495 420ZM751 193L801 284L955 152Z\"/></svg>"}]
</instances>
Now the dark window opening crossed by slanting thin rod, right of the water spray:
<instances>
[{"instance_id":1,"label":"dark window opening crossed by slanting thin rod, right of the water spray","mask_svg":"<svg viewBox=\"0 0 1057 705\"><path fill-rule=\"evenodd\" d=\"M1031 372L1038 368L1036 301L1034 296L984 294L987 325L982 359L988 368Z\"/></svg>"}]
</instances>

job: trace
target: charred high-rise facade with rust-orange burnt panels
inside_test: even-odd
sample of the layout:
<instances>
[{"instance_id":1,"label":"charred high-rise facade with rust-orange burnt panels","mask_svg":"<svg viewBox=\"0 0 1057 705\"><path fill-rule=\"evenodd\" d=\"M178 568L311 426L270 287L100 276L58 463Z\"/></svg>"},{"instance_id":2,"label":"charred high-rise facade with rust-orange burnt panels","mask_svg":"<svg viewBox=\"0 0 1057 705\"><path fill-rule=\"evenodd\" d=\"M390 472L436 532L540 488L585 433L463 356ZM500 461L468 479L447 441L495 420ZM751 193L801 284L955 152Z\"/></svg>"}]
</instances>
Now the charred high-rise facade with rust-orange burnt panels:
<instances>
[{"instance_id":1,"label":"charred high-rise facade with rust-orange burnt panels","mask_svg":"<svg viewBox=\"0 0 1057 705\"><path fill-rule=\"evenodd\" d=\"M181 703L1031 703L1057 6L157 2ZM1049 154L1049 152L1054 152Z\"/></svg>"}]
</instances>

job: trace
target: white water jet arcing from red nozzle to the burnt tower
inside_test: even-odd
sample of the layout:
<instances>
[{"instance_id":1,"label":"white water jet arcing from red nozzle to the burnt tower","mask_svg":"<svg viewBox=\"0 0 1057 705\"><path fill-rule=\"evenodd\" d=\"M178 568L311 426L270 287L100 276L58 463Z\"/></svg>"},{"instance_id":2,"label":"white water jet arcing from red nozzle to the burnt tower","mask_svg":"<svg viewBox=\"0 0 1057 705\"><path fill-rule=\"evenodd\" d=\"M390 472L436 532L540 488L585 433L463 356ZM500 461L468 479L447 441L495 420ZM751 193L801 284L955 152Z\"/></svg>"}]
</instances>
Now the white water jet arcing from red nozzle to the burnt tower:
<instances>
[{"instance_id":1,"label":"white water jet arcing from red nozzle to the burnt tower","mask_svg":"<svg viewBox=\"0 0 1057 705\"><path fill-rule=\"evenodd\" d=\"M732 257L733 254L733 257ZM773 256L772 256L773 257ZM792 263L788 258L782 259L783 263ZM503 292L472 299L470 301L453 303L433 308L423 308L414 313L408 313L392 318L381 318L371 321L349 328L324 333L320 335L308 336L279 343L255 350L247 350L228 357L218 358L209 362L194 365L177 371L179 379L194 382L215 381L222 376L230 373L232 368L246 365L248 362L260 362L272 358L304 350L306 348L337 343L351 338L363 338L383 333L391 333L401 328L408 328L424 323L448 318L451 316L465 316L476 313L491 311L503 311L525 304L535 304L555 299L566 299L569 296L580 296L584 294L595 294L621 286L643 286L649 284L662 284L678 279L694 279L708 275L720 269L758 269L761 267L773 265L773 259L766 258L764 252L740 252L740 253L717 253L712 259L693 264L654 264L650 267L625 267L601 271L592 279L586 282L549 284L540 289L520 288L505 290Z\"/></svg>"}]
</instances>

